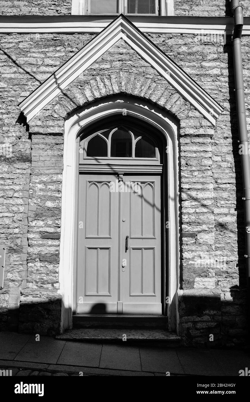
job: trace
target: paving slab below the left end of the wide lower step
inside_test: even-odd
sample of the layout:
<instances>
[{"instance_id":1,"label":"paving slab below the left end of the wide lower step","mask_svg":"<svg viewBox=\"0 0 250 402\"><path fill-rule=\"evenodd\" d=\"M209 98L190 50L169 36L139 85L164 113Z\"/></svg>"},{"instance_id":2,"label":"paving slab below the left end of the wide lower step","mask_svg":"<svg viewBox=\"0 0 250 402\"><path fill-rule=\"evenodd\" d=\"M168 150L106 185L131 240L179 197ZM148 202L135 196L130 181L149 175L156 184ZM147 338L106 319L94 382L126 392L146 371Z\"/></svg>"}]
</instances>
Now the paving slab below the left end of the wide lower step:
<instances>
[{"instance_id":1,"label":"paving slab below the left end of the wide lower step","mask_svg":"<svg viewBox=\"0 0 250 402\"><path fill-rule=\"evenodd\" d=\"M101 348L96 343L66 342L57 363L98 367Z\"/></svg>"}]
</instances>

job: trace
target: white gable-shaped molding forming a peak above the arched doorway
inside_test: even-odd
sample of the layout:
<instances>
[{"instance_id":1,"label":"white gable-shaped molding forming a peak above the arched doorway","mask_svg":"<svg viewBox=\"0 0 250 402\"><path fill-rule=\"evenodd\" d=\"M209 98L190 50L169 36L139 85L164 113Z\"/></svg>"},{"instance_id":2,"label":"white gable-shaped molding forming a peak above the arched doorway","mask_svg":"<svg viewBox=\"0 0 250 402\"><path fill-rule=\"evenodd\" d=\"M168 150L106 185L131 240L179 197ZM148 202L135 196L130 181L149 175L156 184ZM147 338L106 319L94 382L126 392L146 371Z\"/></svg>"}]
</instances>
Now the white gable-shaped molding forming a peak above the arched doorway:
<instances>
[{"instance_id":1,"label":"white gable-shaped molding forming a peak above the arched doorway","mask_svg":"<svg viewBox=\"0 0 250 402\"><path fill-rule=\"evenodd\" d=\"M123 15L118 16L21 102L19 106L27 122L120 39L151 64L177 92L215 125L222 107Z\"/></svg>"}]
</instances>

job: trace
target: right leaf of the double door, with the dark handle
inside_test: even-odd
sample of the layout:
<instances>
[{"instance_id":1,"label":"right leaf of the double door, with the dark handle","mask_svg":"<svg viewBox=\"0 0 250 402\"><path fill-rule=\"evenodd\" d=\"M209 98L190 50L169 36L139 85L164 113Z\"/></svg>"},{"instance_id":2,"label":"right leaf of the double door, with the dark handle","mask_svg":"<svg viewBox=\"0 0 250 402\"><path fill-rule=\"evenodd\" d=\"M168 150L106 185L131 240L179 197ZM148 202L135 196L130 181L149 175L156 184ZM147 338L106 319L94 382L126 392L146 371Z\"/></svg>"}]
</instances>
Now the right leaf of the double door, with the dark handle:
<instances>
[{"instance_id":1,"label":"right leaf of the double door, with the dark handle","mask_svg":"<svg viewBox=\"0 0 250 402\"><path fill-rule=\"evenodd\" d=\"M161 314L160 176L124 176L122 193L123 314ZM126 250L128 236L128 250Z\"/></svg>"}]
</instances>

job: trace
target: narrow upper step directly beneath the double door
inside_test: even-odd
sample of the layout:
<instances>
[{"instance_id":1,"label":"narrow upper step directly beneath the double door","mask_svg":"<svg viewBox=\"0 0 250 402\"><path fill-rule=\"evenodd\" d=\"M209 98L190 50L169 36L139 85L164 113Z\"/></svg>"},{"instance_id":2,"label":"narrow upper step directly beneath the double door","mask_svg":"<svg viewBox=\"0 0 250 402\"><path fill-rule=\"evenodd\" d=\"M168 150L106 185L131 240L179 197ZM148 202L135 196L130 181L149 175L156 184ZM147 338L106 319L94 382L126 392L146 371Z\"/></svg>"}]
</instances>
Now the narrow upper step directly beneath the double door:
<instances>
[{"instance_id":1,"label":"narrow upper step directly beneath the double door","mask_svg":"<svg viewBox=\"0 0 250 402\"><path fill-rule=\"evenodd\" d=\"M167 317L163 315L132 314L76 314L73 328L161 328L167 329Z\"/></svg>"}]
</instances>

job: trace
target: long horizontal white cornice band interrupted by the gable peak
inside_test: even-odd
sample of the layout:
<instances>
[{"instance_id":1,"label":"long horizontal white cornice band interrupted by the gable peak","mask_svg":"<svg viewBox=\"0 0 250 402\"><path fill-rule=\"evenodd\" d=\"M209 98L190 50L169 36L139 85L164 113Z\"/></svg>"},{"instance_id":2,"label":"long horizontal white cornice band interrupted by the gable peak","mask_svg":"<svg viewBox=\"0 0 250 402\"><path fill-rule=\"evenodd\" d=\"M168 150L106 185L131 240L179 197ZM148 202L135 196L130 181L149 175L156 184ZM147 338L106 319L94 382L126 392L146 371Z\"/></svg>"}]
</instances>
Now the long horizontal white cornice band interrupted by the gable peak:
<instances>
[{"instance_id":1,"label":"long horizontal white cornice band interrupted by the gable peak","mask_svg":"<svg viewBox=\"0 0 250 402\"><path fill-rule=\"evenodd\" d=\"M163 7L166 1L161 0ZM172 1L172 0L170 0ZM72 10L75 10L72 3ZM81 7L81 5L80 5ZM77 11L75 10L74 13ZM112 23L116 16L0 16L0 33L99 33ZM201 33L232 35L231 17L193 16L128 16L143 33L176 33L199 35ZM250 17L244 17L242 35L250 35Z\"/></svg>"}]
</instances>

